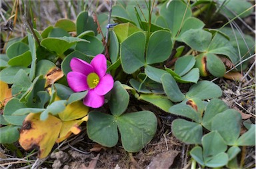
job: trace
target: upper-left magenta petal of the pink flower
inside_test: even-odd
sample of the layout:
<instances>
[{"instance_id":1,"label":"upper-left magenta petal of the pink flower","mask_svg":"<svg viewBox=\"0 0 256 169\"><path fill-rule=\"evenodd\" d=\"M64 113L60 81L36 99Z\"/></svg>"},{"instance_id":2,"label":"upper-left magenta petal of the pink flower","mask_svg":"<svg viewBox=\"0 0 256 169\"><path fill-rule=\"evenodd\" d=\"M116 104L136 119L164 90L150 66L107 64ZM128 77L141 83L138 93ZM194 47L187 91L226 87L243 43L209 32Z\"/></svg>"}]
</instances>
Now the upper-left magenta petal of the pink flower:
<instances>
[{"instance_id":1,"label":"upper-left magenta petal of the pink flower","mask_svg":"<svg viewBox=\"0 0 256 169\"><path fill-rule=\"evenodd\" d=\"M72 71L83 73L83 75L86 75L86 76L89 75L89 73L94 72L93 67L89 63L81 59L78 59L76 57L71 59L70 67Z\"/></svg>"}]
</instances>

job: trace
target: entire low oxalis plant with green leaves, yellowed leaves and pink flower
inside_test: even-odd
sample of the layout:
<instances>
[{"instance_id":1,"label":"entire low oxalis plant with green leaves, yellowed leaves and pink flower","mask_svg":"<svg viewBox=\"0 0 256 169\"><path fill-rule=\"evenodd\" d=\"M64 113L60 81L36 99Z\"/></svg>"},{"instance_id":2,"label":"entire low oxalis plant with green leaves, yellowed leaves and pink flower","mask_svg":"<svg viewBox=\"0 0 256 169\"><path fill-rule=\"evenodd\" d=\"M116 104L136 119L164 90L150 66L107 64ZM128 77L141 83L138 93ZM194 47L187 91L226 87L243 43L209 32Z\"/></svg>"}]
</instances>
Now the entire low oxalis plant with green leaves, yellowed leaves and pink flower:
<instances>
[{"instance_id":1,"label":"entire low oxalis plant with green leaves, yellowed leaves and pink flower","mask_svg":"<svg viewBox=\"0 0 256 169\"><path fill-rule=\"evenodd\" d=\"M193 144L192 168L238 167L240 147L255 146L255 124L242 121L205 79L223 77L227 63L245 69L254 43L228 27L231 21L211 29L197 18L206 10L232 21L252 7L242 0L120 1L112 13L83 11L75 22L27 29L0 58L1 144L19 141L45 158L85 122L94 142L113 147L121 138L127 152L138 152L155 136L157 112L132 112L136 100L178 115L171 130Z\"/></svg>"}]
</instances>

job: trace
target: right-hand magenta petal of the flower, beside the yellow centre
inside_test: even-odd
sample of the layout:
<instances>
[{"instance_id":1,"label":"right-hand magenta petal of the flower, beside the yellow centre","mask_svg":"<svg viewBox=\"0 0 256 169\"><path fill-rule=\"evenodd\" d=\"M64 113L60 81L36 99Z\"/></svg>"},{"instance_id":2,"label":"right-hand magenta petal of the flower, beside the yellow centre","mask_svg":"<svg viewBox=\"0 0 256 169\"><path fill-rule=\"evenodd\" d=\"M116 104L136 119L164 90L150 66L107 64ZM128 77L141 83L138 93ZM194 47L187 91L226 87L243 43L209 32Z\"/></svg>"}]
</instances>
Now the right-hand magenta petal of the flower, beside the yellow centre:
<instances>
[{"instance_id":1,"label":"right-hand magenta petal of the flower, beside the yellow centre","mask_svg":"<svg viewBox=\"0 0 256 169\"><path fill-rule=\"evenodd\" d=\"M114 79L111 75L106 74L99 81L99 84L95 87L95 92L100 96L107 94L114 86Z\"/></svg>"}]
</instances>

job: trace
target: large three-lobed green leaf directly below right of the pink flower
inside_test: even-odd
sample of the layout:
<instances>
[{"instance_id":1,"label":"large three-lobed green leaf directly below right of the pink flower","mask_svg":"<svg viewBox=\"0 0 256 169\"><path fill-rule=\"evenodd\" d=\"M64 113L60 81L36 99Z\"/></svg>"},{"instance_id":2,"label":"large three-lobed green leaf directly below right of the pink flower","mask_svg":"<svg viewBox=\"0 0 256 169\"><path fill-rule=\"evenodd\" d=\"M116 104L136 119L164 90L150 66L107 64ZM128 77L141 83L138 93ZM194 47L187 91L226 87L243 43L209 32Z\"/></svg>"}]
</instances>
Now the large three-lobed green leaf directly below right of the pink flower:
<instances>
[{"instance_id":1,"label":"large three-lobed green leaf directly below right of the pink flower","mask_svg":"<svg viewBox=\"0 0 256 169\"><path fill-rule=\"evenodd\" d=\"M111 114L89 112L87 133L91 140L112 147L118 142L118 132L125 150L137 152L154 136L157 130L157 118L147 110L123 114L129 102L129 94L118 81L111 90L109 100ZM133 138L133 140L131 140Z\"/></svg>"}]
</instances>

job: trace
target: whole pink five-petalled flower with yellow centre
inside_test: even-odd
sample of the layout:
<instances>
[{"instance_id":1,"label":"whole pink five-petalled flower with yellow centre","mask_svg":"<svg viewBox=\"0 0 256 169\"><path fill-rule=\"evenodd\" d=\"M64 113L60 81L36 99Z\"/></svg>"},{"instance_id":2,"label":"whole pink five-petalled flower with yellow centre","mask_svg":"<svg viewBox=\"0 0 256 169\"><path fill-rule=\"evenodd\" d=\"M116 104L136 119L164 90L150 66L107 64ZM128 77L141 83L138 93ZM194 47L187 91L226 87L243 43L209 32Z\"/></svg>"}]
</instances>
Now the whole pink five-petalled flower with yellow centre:
<instances>
[{"instance_id":1,"label":"whole pink five-petalled flower with yellow centre","mask_svg":"<svg viewBox=\"0 0 256 169\"><path fill-rule=\"evenodd\" d=\"M88 90L83 104L92 108L99 108L104 104L104 95L114 85L111 75L106 74L107 59L99 54L93 58L91 64L73 58L70 62L71 72L67 74L67 83L75 92Z\"/></svg>"}]
</instances>

